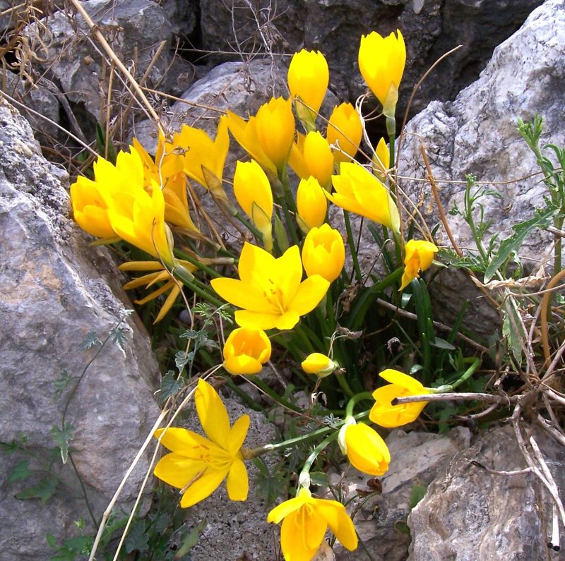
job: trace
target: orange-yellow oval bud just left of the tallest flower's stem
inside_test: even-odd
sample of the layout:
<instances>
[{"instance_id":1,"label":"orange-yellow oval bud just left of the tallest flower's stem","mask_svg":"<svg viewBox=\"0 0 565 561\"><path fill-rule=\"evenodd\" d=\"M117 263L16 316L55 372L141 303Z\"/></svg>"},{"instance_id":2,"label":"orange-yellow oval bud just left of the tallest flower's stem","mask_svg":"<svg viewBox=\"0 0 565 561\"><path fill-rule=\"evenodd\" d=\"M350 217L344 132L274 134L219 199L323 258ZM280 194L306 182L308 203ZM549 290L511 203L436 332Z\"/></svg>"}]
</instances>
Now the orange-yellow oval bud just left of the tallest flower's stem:
<instances>
[{"instance_id":1,"label":"orange-yellow oval bud just left of the tallest flower's stem","mask_svg":"<svg viewBox=\"0 0 565 561\"><path fill-rule=\"evenodd\" d=\"M326 138L329 144L340 148L340 150L337 148L333 150L335 165L350 162L355 157L363 138L363 123L352 104L342 103L334 107L328 123Z\"/></svg>"}]
</instances>

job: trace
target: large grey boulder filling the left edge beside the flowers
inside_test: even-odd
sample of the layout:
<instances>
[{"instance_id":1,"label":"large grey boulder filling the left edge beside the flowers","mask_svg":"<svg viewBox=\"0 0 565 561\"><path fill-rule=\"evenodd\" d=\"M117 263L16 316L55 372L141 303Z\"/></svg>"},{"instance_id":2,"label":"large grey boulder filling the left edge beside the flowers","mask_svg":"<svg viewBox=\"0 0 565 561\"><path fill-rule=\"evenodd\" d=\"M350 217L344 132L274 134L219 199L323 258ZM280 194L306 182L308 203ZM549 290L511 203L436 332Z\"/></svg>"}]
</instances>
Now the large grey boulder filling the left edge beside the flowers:
<instances>
[{"instance_id":1,"label":"large grey boulder filling the left edge beside the flowers","mask_svg":"<svg viewBox=\"0 0 565 561\"><path fill-rule=\"evenodd\" d=\"M97 348L81 349L93 332L104 339L119 322L124 303L107 251L88 247L68 218L68 178L40 155L28 123L0 100L0 440L26 435L26 446L52 457L52 427L61 426L66 396L54 382L66 372L78 377ZM114 273L112 273L114 270ZM110 289L109 284L112 286ZM119 292L116 292L119 291ZM129 305L128 305L129 306ZM73 425L73 460L96 516L102 514L158 410L153 399L157 364L143 327L123 324L124 348L109 342L86 370L66 421ZM76 533L73 521L90 524L81 487L67 463L53 469L65 481L45 505L14 495L40 474L8 483L21 452L0 454L0 542L4 561L49 559L46 533L57 541ZM121 495L131 504L148 462L142 459ZM39 468L35 459L30 468ZM88 526L87 526L88 527Z\"/></svg>"}]
</instances>

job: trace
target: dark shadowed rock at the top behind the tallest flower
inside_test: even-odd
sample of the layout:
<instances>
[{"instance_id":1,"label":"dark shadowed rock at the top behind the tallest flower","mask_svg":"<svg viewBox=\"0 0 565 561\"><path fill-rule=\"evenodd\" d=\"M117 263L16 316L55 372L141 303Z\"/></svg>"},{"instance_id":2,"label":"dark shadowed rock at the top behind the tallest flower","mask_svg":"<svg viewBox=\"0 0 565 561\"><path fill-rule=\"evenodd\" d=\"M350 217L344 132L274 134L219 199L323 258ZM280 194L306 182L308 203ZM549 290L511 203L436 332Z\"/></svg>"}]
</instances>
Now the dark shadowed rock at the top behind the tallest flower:
<instances>
[{"instance_id":1,"label":"dark shadowed rock at the top behind the tallest flower","mask_svg":"<svg viewBox=\"0 0 565 561\"><path fill-rule=\"evenodd\" d=\"M234 56L239 56L238 51L259 48L274 54L292 53L302 47L319 49L328 59L335 91L345 99L354 100L366 87L357 70L361 35L372 30L388 35L399 28L408 48L400 92L402 107L427 68L442 54L463 44L422 86L413 107L417 111L432 99L453 99L477 77L494 47L518 29L541 2L201 0L202 42L204 49L233 52Z\"/></svg>"}]
</instances>

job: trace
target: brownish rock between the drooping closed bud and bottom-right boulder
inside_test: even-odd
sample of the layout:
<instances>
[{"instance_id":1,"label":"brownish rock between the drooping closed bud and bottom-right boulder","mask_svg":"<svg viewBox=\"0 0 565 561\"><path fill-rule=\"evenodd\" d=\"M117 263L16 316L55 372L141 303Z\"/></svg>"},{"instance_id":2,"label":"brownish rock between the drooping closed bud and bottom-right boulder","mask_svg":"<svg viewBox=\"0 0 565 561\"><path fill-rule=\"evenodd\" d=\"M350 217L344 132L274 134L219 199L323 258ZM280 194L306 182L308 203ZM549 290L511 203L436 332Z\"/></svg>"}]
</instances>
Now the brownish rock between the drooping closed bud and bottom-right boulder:
<instances>
[{"instance_id":1,"label":"brownish rock between the drooping closed bud and bottom-right boulder","mask_svg":"<svg viewBox=\"0 0 565 561\"><path fill-rule=\"evenodd\" d=\"M451 462L453 456L466 450L470 442L467 428L453 428L446 435L434 435L396 429L388 435L386 444L391 452L392 462L387 473L379 478L382 493L376 499L364 502L355 514L355 528L365 548L375 561L403 561L408 555L410 536L405 528L410 512L410 495L416 485L426 487L437 473ZM370 491L369 476L350 469L345 481L348 493ZM355 504L355 503L353 503ZM365 560L367 554L359 547L353 552L336 548L338 560ZM421 560L427 560L421 557Z\"/></svg>"}]
</instances>

